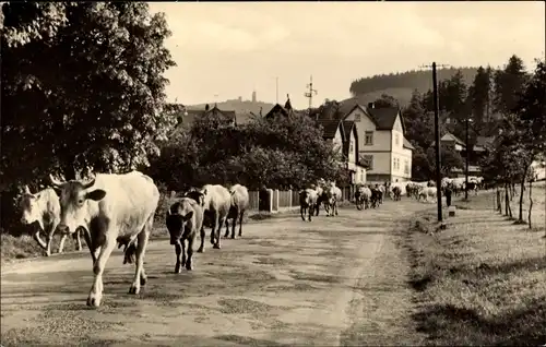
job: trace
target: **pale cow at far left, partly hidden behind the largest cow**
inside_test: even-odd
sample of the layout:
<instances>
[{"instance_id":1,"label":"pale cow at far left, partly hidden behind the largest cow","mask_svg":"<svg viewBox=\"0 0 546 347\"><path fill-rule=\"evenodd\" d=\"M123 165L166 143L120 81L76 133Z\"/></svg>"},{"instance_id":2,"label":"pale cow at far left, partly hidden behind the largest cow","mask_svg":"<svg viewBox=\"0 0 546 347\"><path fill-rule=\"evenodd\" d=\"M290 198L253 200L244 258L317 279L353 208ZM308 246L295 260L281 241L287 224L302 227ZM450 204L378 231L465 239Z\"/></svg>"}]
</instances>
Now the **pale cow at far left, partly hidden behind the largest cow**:
<instances>
[{"instance_id":1,"label":"pale cow at far left, partly hidden behind the largest cow","mask_svg":"<svg viewBox=\"0 0 546 347\"><path fill-rule=\"evenodd\" d=\"M31 193L28 186L25 186L23 196L21 199L23 216L21 223L24 225L32 225L37 223L39 228L33 231L33 238L46 251L46 255L51 255L51 242L54 234L60 222L61 205L59 196L52 188L46 188L36 194ZM46 242L39 237L39 232L46 234ZM75 248L78 251L82 250L82 240L80 238L80 230L75 232ZM59 253L64 249L64 241L68 234L61 236L59 242Z\"/></svg>"}]
</instances>

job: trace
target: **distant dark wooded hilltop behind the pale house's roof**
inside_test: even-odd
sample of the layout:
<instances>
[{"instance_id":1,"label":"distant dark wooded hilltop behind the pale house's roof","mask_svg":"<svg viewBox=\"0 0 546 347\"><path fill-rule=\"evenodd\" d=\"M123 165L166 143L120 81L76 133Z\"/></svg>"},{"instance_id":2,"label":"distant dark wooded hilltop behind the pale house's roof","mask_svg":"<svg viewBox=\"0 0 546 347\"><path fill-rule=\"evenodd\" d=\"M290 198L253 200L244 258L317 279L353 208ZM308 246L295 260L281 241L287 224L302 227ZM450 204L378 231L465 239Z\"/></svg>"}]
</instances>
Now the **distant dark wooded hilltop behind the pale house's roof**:
<instances>
[{"instance_id":1,"label":"distant dark wooded hilltop behind the pale house's roof","mask_svg":"<svg viewBox=\"0 0 546 347\"><path fill-rule=\"evenodd\" d=\"M461 70L466 85L472 84L477 68L450 68L438 70L438 81L450 79ZM425 93L432 87L430 70L414 70L402 73L379 74L351 83L349 92L359 100L373 101L381 94L391 95L401 105L407 105L414 89Z\"/></svg>"}]
</instances>

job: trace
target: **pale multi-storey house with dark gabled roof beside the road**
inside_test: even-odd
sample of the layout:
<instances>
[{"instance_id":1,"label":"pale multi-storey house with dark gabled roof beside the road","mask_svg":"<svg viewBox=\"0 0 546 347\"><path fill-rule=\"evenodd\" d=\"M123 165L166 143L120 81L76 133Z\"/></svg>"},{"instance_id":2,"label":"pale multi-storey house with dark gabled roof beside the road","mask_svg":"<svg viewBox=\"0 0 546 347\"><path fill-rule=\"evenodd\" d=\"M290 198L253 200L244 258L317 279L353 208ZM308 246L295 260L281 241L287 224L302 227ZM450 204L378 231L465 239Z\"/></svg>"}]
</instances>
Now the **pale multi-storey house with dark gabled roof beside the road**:
<instances>
[{"instance_id":1,"label":"pale multi-storey house with dark gabled roof beside the road","mask_svg":"<svg viewBox=\"0 0 546 347\"><path fill-rule=\"evenodd\" d=\"M367 166L370 182L412 179L412 151L405 139L404 120L399 108L376 108L356 104L342 119L353 121L358 143L358 160Z\"/></svg>"}]
</instances>

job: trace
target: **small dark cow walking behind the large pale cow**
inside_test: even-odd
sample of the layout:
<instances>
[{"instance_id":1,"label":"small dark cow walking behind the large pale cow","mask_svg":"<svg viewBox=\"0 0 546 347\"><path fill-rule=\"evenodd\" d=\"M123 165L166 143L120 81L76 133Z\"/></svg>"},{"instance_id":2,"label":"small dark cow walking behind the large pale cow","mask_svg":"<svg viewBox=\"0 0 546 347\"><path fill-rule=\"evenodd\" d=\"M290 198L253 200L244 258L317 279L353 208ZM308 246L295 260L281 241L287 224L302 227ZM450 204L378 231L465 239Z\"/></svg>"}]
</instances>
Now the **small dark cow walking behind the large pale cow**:
<instances>
[{"instance_id":1,"label":"small dark cow walking behind the large pale cow","mask_svg":"<svg viewBox=\"0 0 546 347\"><path fill-rule=\"evenodd\" d=\"M193 243L198 232L203 230L203 207L193 199L182 198L167 210L165 223L170 235L170 244L175 246L176 251L175 274L179 274L182 266L188 271L193 270ZM201 239L204 239L204 235L201 235Z\"/></svg>"}]
</instances>

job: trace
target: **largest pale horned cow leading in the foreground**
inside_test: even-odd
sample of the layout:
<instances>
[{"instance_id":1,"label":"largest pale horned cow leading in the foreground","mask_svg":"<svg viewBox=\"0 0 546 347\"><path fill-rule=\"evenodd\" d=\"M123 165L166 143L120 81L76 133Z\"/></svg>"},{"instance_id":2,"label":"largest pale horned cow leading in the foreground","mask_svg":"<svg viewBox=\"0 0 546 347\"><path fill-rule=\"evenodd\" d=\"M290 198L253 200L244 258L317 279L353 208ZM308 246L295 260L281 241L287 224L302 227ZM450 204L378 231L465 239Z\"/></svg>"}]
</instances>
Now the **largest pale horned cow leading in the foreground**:
<instances>
[{"instance_id":1,"label":"largest pale horned cow leading in the foreground","mask_svg":"<svg viewBox=\"0 0 546 347\"><path fill-rule=\"evenodd\" d=\"M147 282L144 254L152 230L159 191L152 178L140 171L97 174L91 180L61 182L49 175L60 196L61 218L58 228L74 232L85 228L93 258L94 280L87 306L99 307L103 298L103 273L116 242L135 254L135 272L129 294L139 294ZM87 239L88 238L88 239Z\"/></svg>"}]
</instances>

